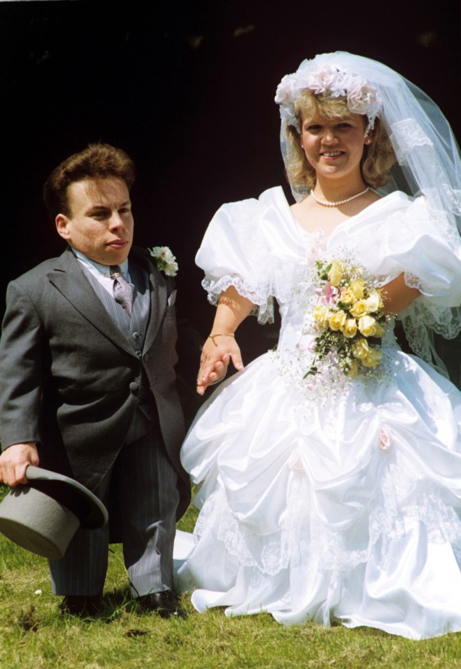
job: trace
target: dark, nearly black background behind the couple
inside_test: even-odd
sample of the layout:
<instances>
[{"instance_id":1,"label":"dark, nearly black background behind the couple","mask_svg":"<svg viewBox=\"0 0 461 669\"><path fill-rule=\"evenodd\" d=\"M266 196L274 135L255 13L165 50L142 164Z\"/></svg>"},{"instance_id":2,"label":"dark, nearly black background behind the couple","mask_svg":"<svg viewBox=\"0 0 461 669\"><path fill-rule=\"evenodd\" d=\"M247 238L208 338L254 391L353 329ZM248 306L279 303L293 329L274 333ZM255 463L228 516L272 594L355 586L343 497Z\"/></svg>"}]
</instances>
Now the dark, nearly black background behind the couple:
<instances>
[{"instance_id":1,"label":"dark, nearly black background behind the couple","mask_svg":"<svg viewBox=\"0 0 461 669\"><path fill-rule=\"evenodd\" d=\"M135 243L171 247L181 312L207 334L205 226L224 201L285 183L276 86L335 50L398 70L460 137L457 0L0 3L0 316L8 281L63 249L42 183L101 140L134 159ZM273 345L274 328L242 327L246 360Z\"/></svg>"}]
</instances>

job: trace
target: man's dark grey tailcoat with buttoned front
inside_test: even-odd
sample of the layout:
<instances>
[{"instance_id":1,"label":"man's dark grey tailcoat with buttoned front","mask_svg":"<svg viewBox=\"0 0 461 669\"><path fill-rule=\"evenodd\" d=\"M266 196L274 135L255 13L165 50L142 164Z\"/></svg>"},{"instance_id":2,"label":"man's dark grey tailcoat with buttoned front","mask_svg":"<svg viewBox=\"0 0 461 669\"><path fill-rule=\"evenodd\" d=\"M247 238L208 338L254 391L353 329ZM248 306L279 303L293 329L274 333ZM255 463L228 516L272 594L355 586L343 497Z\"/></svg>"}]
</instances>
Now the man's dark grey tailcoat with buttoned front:
<instances>
[{"instance_id":1,"label":"man's dark grey tailcoat with buttoned front","mask_svg":"<svg viewBox=\"0 0 461 669\"><path fill-rule=\"evenodd\" d=\"M42 467L94 489L123 445L144 368L178 472L180 516L189 503L189 477L179 459L185 428L175 383L175 307L168 305L173 279L149 258L143 249L130 252L150 277L142 359L70 249L10 283L0 342L0 439L3 449L38 442Z\"/></svg>"}]
</instances>

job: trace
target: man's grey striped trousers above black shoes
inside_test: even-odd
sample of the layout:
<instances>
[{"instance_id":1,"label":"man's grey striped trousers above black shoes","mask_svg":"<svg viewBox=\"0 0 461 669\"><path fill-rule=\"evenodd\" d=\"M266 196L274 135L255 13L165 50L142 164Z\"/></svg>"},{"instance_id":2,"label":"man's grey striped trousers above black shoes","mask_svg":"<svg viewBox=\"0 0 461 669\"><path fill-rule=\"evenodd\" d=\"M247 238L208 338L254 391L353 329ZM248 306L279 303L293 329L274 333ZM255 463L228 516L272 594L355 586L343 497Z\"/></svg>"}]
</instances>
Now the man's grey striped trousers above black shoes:
<instances>
[{"instance_id":1,"label":"man's grey striped trousers above black shoes","mask_svg":"<svg viewBox=\"0 0 461 669\"><path fill-rule=\"evenodd\" d=\"M116 501L123 557L134 597L173 589L177 474L159 427L123 447L93 491ZM109 527L77 530L61 560L49 560L54 594L101 594L107 571Z\"/></svg>"}]
</instances>

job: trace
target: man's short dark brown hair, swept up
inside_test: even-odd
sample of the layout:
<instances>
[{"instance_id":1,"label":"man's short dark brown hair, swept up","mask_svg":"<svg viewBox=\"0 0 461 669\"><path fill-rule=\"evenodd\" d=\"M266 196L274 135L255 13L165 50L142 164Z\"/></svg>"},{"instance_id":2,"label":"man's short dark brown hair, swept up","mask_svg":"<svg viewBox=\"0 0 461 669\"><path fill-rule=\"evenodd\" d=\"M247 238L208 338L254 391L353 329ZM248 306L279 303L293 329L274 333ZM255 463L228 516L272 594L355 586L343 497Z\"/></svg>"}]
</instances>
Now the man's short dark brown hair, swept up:
<instances>
[{"instance_id":1,"label":"man's short dark brown hair, swept up","mask_svg":"<svg viewBox=\"0 0 461 669\"><path fill-rule=\"evenodd\" d=\"M125 181L130 190L134 182L134 162L121 148L109 144L88 144L80 153L63 160L43 187L45 206L52 221L58 214L70 214L67 190L71 183L114 176Z\"/></svg>"}]
</instances>

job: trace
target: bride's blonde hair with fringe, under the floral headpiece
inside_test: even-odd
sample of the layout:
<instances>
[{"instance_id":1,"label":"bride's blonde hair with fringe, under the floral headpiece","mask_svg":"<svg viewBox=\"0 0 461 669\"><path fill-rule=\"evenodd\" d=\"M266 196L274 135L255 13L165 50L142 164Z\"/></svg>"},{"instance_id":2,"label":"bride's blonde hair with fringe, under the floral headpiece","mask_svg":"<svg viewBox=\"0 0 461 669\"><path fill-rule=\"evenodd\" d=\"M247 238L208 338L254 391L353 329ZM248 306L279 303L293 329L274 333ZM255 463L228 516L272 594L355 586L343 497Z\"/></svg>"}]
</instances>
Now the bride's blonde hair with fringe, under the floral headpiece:
<instances>
[{"instance_id":1,"label":"bride's blonde hair with fringe, under the floral headpiece","mask_svg":"<svg viewBox=\"0 0 461 669\"><path fill-rule=\"evenodd\" d=\"M329 95L315 95L308 89L302 89L295 101L295 115L299 128L302 116L323 116L328 119L347 118L352 113L347 109L346 98L333 98ZM367 116L362 116L364 130L368 125ZM301 146L301 134L295 125L288 125L288 141L290 149L286 158L286 174L292 187L315 186L315 170L308 162ZM360 162L361 175L367 186L377 188L384 186L389 180L389 171L396 162L391 140L379 118L375 119L375 128L370 132L371 144L364 145L364 155Z\"/></svg>"}]
</instances>

